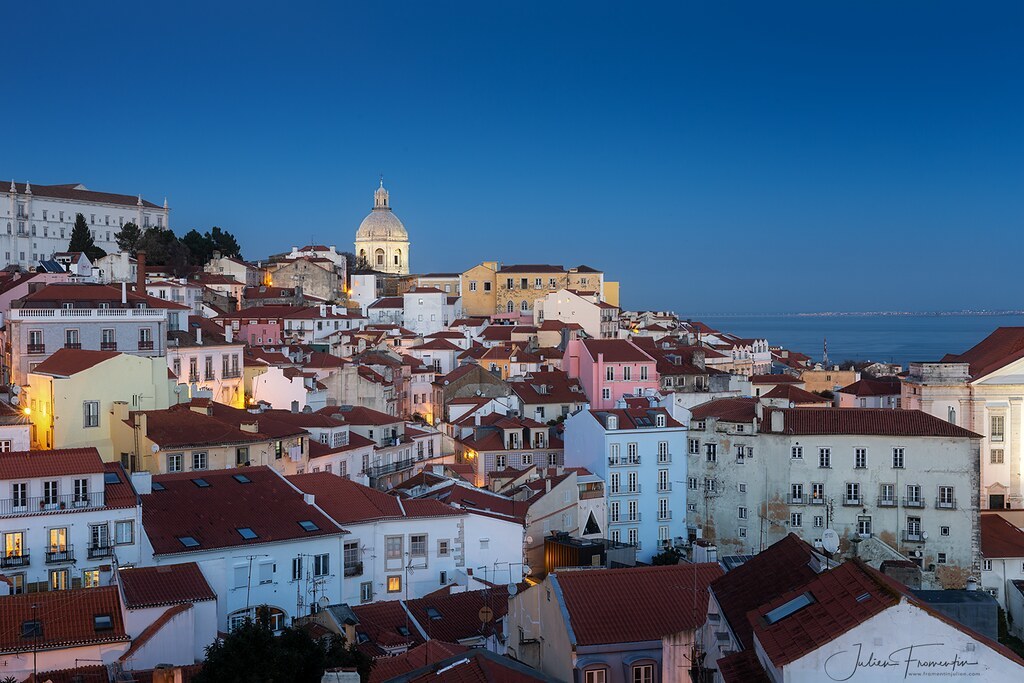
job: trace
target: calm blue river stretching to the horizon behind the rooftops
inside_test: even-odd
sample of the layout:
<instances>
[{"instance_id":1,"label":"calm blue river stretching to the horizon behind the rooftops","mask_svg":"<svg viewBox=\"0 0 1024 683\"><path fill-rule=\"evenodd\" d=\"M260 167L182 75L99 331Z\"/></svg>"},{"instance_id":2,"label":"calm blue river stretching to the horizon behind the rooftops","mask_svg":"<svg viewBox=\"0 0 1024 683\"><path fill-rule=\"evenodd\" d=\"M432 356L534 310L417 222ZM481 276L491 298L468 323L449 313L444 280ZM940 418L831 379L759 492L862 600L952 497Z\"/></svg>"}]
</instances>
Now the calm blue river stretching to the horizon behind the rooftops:
<instances>
[{"instance_id":1,"label":"calm blue river stretching to the horizon behind the rooftops","mask_svg":"<svg viewBox=\"0 0 1024 683\"><path fill-rule=\"evenodd\" d=\"M821 359L899 362L938 360L961 353L998 327L1024 327L1024 315L720 315L694 316L740 337L766 337L768 343Z\"/></svg>"}]
</instances>

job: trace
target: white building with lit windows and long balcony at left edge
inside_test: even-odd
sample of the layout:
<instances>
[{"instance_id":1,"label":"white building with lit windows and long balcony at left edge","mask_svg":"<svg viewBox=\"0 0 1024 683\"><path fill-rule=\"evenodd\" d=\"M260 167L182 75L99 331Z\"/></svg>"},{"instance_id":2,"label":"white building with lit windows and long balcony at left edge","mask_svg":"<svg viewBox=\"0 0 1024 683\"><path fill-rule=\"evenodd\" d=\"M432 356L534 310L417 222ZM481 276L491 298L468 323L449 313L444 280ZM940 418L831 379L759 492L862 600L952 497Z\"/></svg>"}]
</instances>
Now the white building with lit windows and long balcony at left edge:
<instances>
[{"instance_id":1,"label":"white building with lit windows and long balcony at left edge","mask_svg":"<svg viewBox=\"0 0 1024 683\"><path fill-rule=\"evenodd\" d=\"M0 453L0 572L14 593L92 588L142 560L141 509L95 449Z\"/></svg>"}]
</instances>

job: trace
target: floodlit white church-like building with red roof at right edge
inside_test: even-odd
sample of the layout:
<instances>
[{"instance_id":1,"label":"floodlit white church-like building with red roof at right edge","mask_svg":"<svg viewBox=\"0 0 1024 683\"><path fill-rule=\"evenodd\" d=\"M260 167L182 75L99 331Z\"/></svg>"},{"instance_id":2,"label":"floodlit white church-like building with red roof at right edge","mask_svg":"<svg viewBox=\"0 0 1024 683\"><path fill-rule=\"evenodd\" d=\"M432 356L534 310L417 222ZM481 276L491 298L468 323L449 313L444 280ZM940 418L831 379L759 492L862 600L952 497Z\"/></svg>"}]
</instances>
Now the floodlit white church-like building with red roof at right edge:
<instances>
[{"instance_id":1,"label":"floodlit white church-like building with red roof at right edge","mask_svg":"<svg viewBox=\"0 0 1024 683\"><path fill-rule=\"evenodd\" d=\"M911 362L903 408L982 435L981 507L1024 507L1024 328L999 328L959 355Z\"/></svg>"}]
</instances>

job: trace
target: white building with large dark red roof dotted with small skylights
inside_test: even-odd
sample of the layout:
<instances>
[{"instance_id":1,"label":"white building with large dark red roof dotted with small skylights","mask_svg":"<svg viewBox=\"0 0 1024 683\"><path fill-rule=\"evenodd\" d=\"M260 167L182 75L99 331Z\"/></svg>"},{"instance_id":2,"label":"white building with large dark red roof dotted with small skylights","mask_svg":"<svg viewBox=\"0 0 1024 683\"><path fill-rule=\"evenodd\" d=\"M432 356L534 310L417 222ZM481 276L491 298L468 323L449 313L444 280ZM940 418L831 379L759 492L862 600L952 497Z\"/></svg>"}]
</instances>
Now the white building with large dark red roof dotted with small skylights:
<instances>
[{"instance_id":1,"label":"white building with large dark red roof dotted with small skylights","mask_svg":"<svg viewBox=\"0 0 1024 683\"><path fill-rule=\"evenodd\" d=\"M276 630L322 598L341 601L345 531L270 468L164 474L150 489L147 478L133 477L146 561L199 564L217 595L219 630L253 618L257 607Z\"/></svg>"}]
</instances>

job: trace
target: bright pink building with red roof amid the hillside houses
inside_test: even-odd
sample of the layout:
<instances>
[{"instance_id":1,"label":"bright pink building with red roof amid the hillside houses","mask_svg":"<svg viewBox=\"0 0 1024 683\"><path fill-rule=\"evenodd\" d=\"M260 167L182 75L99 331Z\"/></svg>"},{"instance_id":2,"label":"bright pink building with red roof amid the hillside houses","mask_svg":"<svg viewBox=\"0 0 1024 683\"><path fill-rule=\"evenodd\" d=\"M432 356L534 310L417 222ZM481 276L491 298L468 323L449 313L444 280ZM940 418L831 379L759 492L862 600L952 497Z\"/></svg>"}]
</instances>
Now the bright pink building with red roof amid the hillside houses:
<instances>
[{"instance_id":1,"label":"bright pink building with red roof amid the hillside houses","mask_svg":"<svg viewBox=\"0 0 1024 683\"><path fill-rule=\"evenodd\" d=\"M562 369L583 384L591 408L615 407L623 396L658 390L656 361L627 339L573 339Z\"/></svg>"}]
</instances>

